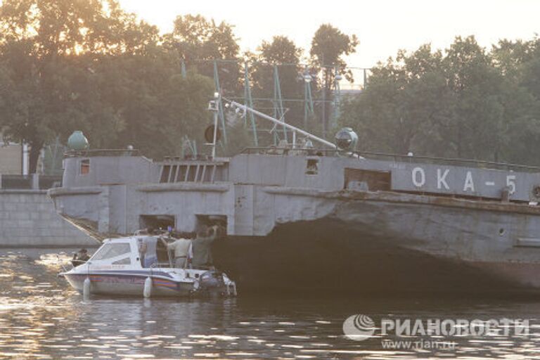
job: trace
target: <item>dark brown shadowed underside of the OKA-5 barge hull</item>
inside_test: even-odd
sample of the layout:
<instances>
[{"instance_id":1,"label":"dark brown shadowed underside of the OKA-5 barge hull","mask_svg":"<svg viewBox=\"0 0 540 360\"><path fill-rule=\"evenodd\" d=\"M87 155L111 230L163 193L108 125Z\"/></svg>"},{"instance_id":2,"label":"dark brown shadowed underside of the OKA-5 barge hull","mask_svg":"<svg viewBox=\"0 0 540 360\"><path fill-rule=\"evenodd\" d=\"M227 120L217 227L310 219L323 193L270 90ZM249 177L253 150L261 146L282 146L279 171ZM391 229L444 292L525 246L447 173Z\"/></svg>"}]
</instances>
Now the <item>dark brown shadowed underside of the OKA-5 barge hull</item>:
<instances>
[{"instance_id":1,"label":"dark brown shadowed underside of the OKA-5 barge hull","mask_svg":"<svg viewBox=\"0 0 540 360\"><path fill-rule=\"evenodd\" d=\"M281 226L264 239L221 240L214 257L242 293L540 292L510 280L538 278L540 264L456 261L368 245L378 240L314 221Z\"/></svg>"}]
</instances>

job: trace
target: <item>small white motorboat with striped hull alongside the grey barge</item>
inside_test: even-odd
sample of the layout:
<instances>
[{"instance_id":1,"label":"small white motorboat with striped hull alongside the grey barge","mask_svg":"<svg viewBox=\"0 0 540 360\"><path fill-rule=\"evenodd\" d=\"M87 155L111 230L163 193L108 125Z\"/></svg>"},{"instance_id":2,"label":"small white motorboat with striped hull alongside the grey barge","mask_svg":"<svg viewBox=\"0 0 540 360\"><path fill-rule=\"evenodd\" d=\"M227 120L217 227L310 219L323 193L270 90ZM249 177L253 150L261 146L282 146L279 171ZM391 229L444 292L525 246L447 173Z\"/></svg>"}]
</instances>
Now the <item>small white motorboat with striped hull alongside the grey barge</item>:
<instances>
[{"instance_id":1,"label":"small white motorboat with striped hull alongside the grey barge","mask_svg":"<svg viewBox=\"0 0 540 360\"><path fill-rule=\"evenodd\" d=\"M236 283L224 273L190 266L174 267L161 238L136 235L104 240L87 262L60 275L84 295L236 296ZM143 242L153 243L155 253L141 253Z\"/></svg>"}]
</instances>

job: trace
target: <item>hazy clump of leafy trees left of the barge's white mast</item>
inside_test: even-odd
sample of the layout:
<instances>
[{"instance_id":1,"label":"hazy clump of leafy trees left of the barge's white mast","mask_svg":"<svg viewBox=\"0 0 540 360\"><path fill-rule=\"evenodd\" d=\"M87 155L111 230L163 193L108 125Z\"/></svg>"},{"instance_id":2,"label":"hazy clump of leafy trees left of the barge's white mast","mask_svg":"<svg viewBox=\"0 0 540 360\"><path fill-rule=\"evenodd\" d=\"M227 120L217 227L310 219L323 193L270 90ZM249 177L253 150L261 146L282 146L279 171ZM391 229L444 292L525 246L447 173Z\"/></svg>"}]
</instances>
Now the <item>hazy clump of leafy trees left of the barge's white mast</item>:
<instances>
[{"instance_id":1,"label":"hazy clump of leafy trees left of the barge's white mast","mask_svg":"<svg viewBox=\"0 0 540 360\"><path fill-rule=\"evenodd\" d=\"M94 147L158 158L202 134L212 82L181 77L157 28L116 1L4 0L0 26L0 129L30 145L30 172L45 143L75 129Z\"/></svg>"}]
</instances>

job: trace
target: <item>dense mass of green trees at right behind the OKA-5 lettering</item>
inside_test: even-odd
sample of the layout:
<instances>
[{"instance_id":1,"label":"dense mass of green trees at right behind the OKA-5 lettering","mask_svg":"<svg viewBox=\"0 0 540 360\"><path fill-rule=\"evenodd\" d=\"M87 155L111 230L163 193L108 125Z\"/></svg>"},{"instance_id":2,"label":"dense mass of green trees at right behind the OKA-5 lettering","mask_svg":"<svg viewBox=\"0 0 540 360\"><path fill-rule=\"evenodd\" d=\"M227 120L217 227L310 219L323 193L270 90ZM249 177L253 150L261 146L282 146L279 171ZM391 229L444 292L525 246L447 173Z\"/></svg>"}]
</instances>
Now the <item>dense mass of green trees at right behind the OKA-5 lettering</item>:
<instances>
[{"instance_id":1,"label":"dense mass of green trees at right behind the OKA-5 lettering","mask_svg":"<svg viewBox=\"0 0 540 360\"><path fill-rule=\"evenodd\" d=\"M364 150L540 164L539 41L500 41L491 51L456 37L446 51L399 51L349 97L341 122Z\"/></svg>"}]
</instances>

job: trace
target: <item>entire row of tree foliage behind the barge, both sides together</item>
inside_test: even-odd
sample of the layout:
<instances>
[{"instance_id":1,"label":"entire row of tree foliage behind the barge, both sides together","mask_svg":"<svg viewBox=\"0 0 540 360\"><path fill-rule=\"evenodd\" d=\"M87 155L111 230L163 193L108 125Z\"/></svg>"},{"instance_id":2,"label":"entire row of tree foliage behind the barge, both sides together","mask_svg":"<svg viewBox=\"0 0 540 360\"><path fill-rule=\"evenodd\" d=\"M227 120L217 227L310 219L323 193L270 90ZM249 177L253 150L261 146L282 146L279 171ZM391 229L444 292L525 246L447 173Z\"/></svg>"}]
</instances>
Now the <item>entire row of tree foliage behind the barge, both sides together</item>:
<instances>
[{"instance_id":1,"label":"entire row of tree foliage behind the barge, both sides together","mask_svg":"<svg viewBox=\"0 0 540 360\"><path fill-rule=\"evenodd\" d=\"M285 118L296 125L304 118L302 77L314 75L314 98L326 101L316 101L322 121L309 127L325 134L335 76L351 79L345 58L359 44L323 24L309 65L285 36L241 56L233 25L179 15L160 35L116 0L4 0L0 27L0 131L30 144L32 172L41 148L75 129L96 148L133 145L160 158L180 153L188 135L200 152L214 73L222 96L243 98L245 62L255 108L272 113L276 68ZM399 51L373 68L361 94L346 98L340 123L359 131L364 150L540 165L540 39L503 39L488 50L456 37L444 51ZM231 122L222 153L250 145L246 127L247 120Z\"/></svg>"}]
</instances>

